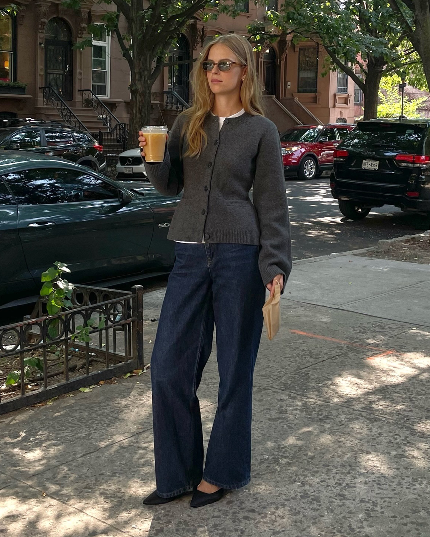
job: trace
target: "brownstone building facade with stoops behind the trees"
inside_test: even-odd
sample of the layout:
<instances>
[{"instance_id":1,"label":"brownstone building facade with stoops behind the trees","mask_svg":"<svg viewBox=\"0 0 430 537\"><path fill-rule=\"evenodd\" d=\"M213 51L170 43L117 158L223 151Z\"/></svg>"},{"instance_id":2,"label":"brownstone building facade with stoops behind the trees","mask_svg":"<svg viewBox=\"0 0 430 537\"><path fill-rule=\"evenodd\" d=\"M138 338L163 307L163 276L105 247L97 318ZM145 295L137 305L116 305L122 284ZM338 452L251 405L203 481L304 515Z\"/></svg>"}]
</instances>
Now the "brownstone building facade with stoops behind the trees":
<instances>
[{"instance_id":1,"label":"brownstone building facade with stoops behind the trees","mask_svg":"<svg viewBox=\"0 0 430 537\"><path fill-rule=\"evenodd\" d=\"M104 33L93 40L92 47L82 51L73 47L88 37L88 24L97 24L114 5L102 7L88 0L76 12L65 9L61 0L16 3L21 6L17 17L0 16L0 118L59 119L59 107L49 99L50 90L43 89L52 88L91 132L107 127L103 114L96 113L89 105L89 94L82 90L92 90L120 122L127 123L130 71L116 38ZM6 4L8 1L0 0L0 7ZM221 15L203 23L194 17L172 47L171 59L197 57L216 34L246 35L246 25L263 18L265 12L265 6L245 1L236 19ZM125 21L122 26L125 30ZM256 53L267 115L280 131L300 123L354 121L354 105L359 110L361 92L342 72L321 76L324 54L323 47L313 41L294 45L290 37ZM13 88L8 81L25 83L26 89ZM187 64L165 68L154 84L151 105L155 124L171 122L177 96L187 103L192 99Z\"/></svg>"}]
</instances>

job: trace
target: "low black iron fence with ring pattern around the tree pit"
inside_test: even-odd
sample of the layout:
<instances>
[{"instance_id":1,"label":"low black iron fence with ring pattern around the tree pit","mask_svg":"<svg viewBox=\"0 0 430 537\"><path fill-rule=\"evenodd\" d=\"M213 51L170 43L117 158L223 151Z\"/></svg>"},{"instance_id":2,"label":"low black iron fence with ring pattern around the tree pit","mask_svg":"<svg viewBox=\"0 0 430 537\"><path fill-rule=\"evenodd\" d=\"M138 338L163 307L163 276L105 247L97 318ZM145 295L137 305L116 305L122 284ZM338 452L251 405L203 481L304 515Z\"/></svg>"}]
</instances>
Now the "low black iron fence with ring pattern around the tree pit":
<instances>
[{"instance_id":1,"label":"low black iron fence with ring pattern around the tree pit","mask_svg":"<svg viewBox=\"0 0 430 537\"><path fill-rule=\"evenodd\" d=\"M1 326L0 414L143 369L142 293L76 286L71 309Z\"/></svg>"}]
</instances>

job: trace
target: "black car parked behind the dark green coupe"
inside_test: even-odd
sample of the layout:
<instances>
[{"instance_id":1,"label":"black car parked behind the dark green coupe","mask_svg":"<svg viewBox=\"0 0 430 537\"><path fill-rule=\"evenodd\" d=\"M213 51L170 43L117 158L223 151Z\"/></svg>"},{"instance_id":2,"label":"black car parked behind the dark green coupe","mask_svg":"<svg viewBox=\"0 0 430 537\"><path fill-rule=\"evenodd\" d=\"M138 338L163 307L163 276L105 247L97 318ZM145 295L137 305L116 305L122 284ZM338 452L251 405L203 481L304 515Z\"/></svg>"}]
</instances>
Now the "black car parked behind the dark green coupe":
<instances>
[{"instance_id":1,"label":"black car parked behind the dark green coupe","mask_svg":"<svg viewBox=\"0 0 430 537\"><path fill-rule=\"evenodd\" d=\"M103 146L89 132L61 122L5 120L0 124L0 149L53 155L101 173L106 170Z\"/></svg>"}]
</instances>

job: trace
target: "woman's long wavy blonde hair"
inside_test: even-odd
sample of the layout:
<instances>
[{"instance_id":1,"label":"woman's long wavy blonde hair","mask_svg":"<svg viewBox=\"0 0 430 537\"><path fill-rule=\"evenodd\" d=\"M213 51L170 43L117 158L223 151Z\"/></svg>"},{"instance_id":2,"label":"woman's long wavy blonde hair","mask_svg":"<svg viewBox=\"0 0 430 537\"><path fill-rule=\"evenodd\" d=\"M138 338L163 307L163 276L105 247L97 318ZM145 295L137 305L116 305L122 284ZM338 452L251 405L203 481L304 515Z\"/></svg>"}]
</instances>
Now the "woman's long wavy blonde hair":
<instances>
[{"instance_id":1,"label":"woman's long wavy blonde hair","mask_svg":"<svg viewBox=\"0 0 430 537\"><path fill-rule=\"evenodd\" d=\"M242 86L240 87L240 100L242 100L245 112L251 115L264 115L261 90L257 79L256 62L252 53L251 43L246 38L240 37L237 34L220 35L206 45L192 71L193 105L183 112L187 116L187 121L181 137L183 138L185 136L188 144L188 149L184 156L199 157L208 141L207 135L203 130L203 122L208 112L214 106L214 93L209 88L206 71L203 71L202 68L202 62L208 59L210 48L218 43L228 47L232 53L236 54L239 62L248 68Z\"/></svg>"}]
</instances>

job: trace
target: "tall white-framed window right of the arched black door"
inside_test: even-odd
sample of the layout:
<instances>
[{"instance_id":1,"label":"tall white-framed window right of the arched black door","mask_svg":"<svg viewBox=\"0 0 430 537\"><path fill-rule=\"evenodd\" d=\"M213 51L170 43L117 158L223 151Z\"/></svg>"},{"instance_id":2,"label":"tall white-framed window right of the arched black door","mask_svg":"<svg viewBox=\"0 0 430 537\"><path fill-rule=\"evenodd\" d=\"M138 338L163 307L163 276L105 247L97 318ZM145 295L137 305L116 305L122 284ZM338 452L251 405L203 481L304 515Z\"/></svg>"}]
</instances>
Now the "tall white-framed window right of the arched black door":
<instances>
[{"instance_id":1,"label":"tall white-framed window right of the arched black door","mask_svg":"<svg viewBox=\"0 0 430 537\"><path fill-rule=\"evenodd\" d=\"M92 91L99 97L109 97L111 79L111 37L100 24L92 36Z\"/></svg>"}]
</instances>

